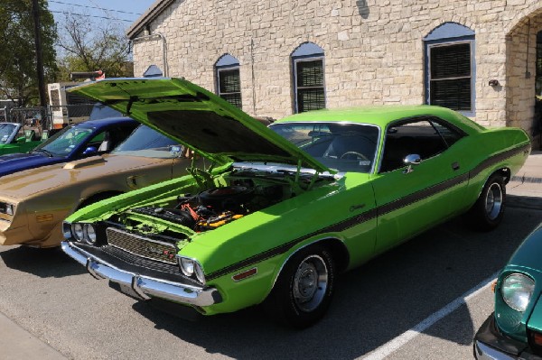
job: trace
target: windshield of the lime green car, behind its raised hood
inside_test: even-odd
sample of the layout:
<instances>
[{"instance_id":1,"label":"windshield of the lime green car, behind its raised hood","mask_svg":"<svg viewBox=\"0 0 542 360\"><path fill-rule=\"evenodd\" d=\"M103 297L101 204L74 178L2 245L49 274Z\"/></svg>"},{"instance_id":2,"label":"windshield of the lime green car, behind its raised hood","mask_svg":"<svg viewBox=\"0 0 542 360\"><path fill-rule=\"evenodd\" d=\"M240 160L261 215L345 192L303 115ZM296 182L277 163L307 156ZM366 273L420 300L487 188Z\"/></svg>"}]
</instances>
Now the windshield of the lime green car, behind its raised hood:
<instances>
[{"instance_id":1,"label":"windshield of the lime green car, behind its raised hood","mask_svg":"<svg viewBox=\"0 0 542 360\"><path fill-rule=\"evenodd\" d=\"M285 123L269 126L276 134L336 171L370 172L378 127L350 123Z\"/></svg>"}]
</instances>

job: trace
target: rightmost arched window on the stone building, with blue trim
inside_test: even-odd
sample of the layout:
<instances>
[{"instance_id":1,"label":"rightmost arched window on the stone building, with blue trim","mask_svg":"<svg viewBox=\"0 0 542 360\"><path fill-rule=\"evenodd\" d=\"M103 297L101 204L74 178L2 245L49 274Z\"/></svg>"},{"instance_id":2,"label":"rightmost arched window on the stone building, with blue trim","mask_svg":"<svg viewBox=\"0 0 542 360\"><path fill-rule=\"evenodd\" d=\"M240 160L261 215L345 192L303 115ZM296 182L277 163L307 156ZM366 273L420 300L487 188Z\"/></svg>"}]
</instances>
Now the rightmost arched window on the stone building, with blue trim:
<instances>
[{"instance_id":1,"label":"rightmost arched window on the stone building, with blue trim","mask_svg":"<svg viewBox=\"0 0 542 360\"><path fill-rule=\"evenodd\" d=\"M444 23L425 42L425 103L474 115L474 32Z\"/></svg>"}]
</instances>

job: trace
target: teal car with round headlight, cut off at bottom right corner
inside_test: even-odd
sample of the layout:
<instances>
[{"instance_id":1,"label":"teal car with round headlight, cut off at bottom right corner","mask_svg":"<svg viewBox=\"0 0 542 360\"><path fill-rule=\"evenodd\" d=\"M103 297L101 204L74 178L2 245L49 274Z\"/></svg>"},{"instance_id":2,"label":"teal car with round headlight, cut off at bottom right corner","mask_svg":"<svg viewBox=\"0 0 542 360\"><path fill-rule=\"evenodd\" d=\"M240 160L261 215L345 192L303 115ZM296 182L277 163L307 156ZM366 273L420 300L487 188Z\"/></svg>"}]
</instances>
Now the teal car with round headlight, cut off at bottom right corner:
<instances>
[{"instance_id":1,"label":"teal car with round headlight, cut off at bottom right corner","mask_svg":"<svg viewBox=\"0 0 542 360\"><path fill-rule=\"evenodd\" d=\"M542 359L542 224L519 245L495 284L495 311L474 337L477 359Z\"/></svg>"}]
</instances>

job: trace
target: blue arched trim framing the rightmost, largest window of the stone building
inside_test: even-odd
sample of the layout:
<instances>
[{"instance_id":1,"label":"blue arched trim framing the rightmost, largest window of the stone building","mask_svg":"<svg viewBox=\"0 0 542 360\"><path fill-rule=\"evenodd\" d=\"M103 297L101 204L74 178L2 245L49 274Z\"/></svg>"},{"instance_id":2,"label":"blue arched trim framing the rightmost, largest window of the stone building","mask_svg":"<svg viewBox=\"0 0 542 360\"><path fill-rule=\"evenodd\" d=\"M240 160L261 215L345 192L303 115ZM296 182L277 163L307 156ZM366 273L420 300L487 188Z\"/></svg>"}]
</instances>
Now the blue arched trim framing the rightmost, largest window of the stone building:
<instances>
[{"instance_id":1,"label":"blue arched trim framing the rightmost, largest window of the stone building","mask_svg":"<svg viewBox=\"0 0 542 360\"><path fill-rule=\"evenodd\" d=\"M441 38L441 36L445 36ZM424 38L424 85L425 85L425 104L430 103L430 79L431 79L431 64L430 64L430 51L431 48L436 46L454 45L459 43L469 43L471 45L471 110L459 111L459 113L465 116L476 115L476 42L474 32L471 29L460 25L458 23L444 23L443 25L435 28L433 32L430 32Z\"/></svg>"}]
</instances>

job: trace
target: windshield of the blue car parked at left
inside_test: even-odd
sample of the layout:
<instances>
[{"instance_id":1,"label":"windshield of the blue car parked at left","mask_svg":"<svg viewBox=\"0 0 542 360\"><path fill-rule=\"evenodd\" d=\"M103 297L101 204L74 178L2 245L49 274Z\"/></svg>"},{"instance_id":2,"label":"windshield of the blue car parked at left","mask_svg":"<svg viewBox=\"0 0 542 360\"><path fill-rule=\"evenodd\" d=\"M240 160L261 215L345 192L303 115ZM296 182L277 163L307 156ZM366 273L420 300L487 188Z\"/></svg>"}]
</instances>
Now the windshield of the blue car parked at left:
<instances>
[{"instance_id":1,"label":"windshield of the blue car parked at left","mask_svg":"<svg viewBox=\"0 0 542 360\"><path fill-rule=\"evenodd\" d=\"M80 126L70 126L61 130L61 132L52 135L45 143L38 145L33 152L47 152L52 156L67 156L80 143L87 140L93 133L92 128Z\"/></svg>"}]
</instances>

